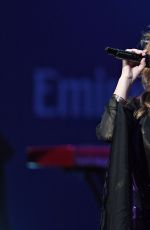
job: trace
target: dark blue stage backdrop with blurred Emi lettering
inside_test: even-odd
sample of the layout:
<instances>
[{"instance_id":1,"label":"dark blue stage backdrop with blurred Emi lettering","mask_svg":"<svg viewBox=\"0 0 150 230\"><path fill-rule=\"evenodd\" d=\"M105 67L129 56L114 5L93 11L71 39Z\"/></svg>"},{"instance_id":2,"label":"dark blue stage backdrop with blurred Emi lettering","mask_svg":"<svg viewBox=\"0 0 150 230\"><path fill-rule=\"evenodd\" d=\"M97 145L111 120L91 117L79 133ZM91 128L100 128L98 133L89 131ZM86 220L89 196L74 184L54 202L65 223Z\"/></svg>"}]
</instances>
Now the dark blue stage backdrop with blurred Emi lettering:
<instances>
[{"instance_id":1,"label":"dark blue stage backdrop with blurred Emi lettering","mask_svg":"<svg viewBox=\"0 0 150 230\"><path fill-rule=\"evenodd\" d=\"M145 1L146 3L146 1ZM28 146L100 145L95 127L120 76L105 47L139 47L149 24L141 1L9 1L1 7L1 132L12 230L98 229L83 173L27 168ZM142 90L140 82L133 94Z\"/></svg>"}]
</instances>

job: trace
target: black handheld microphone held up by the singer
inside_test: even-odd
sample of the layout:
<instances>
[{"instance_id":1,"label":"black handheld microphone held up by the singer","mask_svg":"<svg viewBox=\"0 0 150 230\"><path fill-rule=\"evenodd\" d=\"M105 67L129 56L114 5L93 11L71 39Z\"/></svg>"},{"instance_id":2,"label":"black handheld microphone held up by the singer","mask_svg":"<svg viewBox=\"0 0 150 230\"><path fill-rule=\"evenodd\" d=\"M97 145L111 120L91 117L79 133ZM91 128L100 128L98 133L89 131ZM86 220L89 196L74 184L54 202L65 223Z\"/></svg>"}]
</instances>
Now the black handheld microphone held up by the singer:
<instances>
[{"instance_id":1,"label":"black handheld microphone held up by the singer","mask_svg":"<svg viewBox=\"0 0 150 230\"><path fill-rule=\"evenodd\" d=\"M129 51L114 49L111 47L106 47L105 50L108 54L113 55L114 57L116 57L118 59L129 60L129 61L135 62L137 64L140 64L140 61L144 57L145 62L146 62L146 67L150 68L150 55L148 55L148 54L146 54L145 56L142 56L141 54L135 54L135 53L132 53Z\"/></svg>"}]
</instances>

